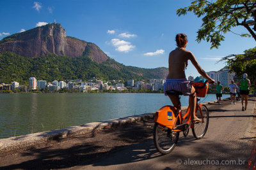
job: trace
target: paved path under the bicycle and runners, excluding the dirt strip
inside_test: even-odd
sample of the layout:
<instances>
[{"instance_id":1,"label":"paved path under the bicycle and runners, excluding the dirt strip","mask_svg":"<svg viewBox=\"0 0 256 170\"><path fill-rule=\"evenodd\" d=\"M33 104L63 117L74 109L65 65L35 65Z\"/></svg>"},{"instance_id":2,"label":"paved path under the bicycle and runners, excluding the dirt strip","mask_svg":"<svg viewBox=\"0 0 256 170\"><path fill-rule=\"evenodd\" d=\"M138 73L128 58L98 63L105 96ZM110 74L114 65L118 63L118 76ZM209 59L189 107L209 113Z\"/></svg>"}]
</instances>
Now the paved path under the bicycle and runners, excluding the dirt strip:
<instances>
[{"instance_id":1,"label":"paved path under the bicycle and runners, excluding the dirt strip","mask_svg":"<svg viewBox=\"0 0 256 170\"><path fill-rule=\"evenodd\" d=\"M168 155L157 153L150 137L95 164L72 169L244 169L256 136L254 107L252 98L247 111L241 111L241 103L211 104L209 129L204 138L195 140L189 132Z\"/></svg>"}]
</instances>

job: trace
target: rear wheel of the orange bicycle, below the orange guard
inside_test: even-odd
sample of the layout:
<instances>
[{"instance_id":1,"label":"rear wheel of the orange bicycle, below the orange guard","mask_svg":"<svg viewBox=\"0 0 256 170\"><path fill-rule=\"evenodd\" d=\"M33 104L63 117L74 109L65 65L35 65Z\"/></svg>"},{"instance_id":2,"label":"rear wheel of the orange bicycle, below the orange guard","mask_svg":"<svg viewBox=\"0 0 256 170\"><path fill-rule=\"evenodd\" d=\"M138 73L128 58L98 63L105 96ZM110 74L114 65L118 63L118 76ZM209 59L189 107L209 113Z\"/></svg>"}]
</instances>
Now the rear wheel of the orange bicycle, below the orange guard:
<instances>
[{"instance_id":1,"label":"rear wheel of the orange bicycle, below the orange guard","mask_svg":"<svg viewBox=\"0 0 256 170\"><path fill-rule=\"evenodd\" d=\"M178 118L176 125L180 124ZM166 155L171 153L172 150L177 145L180 132L173 132L172 129L168 127L161 127L157 122L154 125L154 143L157 150Z\"/></svg>"}]
</instances>

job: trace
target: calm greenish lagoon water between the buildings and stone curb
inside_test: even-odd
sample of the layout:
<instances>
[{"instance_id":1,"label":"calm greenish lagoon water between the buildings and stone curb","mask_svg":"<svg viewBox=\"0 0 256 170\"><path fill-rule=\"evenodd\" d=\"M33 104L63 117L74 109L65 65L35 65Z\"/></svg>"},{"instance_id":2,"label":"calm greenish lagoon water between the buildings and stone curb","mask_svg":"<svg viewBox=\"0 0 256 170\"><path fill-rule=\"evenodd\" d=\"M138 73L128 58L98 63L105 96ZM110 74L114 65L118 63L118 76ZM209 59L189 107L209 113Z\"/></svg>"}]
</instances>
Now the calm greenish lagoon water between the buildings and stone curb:
<instances>
[{"instance_id":1,"label":"calm greenish lagoon water between the buildings and stone curb","mask_svg":"<svg viewBox=\"0 0 256 170\"><path fill-rule=\"evenodd\" d=\"M214 94L201 99L213 100ZM188 96L180 101L187 106ZM164 94L0 94L0 138L140 115L168 104Z\"/></svg>"}]
</instances>

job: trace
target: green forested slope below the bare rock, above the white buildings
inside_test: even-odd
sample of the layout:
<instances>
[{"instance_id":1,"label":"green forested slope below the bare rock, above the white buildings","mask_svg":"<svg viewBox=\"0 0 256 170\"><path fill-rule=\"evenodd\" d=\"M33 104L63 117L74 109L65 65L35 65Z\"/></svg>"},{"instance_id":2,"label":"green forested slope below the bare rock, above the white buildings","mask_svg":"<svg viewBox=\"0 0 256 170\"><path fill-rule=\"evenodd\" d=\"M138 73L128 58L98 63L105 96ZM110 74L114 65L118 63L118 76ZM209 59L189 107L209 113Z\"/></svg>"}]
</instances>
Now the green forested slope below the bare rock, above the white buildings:
<instances>
[{"instance_id":1,"label":"green forested slope below the bare rock, above the white buildings","mask_svg":"<svg viewBox=\"0 0 256 170\"><path fill-rule=\"evenodd\" d=\"M38 57L22 57L12 52L0 53L0 83L18 81L28 84L31 76L37 80L74 80L100 78L102 80L145 80L164 78L168 70L164 67L143 69L124 66L113 59L98 63L90 57L67 57L48 54Z\"/></svg>"}]
</instances>

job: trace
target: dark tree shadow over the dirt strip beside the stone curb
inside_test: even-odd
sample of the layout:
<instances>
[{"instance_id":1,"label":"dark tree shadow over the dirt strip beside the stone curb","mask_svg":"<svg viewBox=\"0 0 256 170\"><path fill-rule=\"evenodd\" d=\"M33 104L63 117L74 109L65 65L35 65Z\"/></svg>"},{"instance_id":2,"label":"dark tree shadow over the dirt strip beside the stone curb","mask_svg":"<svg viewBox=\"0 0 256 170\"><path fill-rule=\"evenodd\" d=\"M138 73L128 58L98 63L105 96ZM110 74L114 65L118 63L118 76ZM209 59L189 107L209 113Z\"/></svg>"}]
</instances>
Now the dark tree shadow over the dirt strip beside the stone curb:
<instances>
[{"instance_id":1,"label":"dark tree shadow over the dirt strip beside the stone curb","mask_svg":"<svg viewBox=\"0 0 256 170\"><path fill-rule=\"evenodd\" d=\"M20 153L19 164L11 162L11 165L2 166L0 169L58 169L86 166L97 162L102 157L108 157L109 153L118 152L127 147L131 148L129 162L158 157L159 154L154 149L152 139L148 139L152 136L152 129L152 120L148 120L96 134L93 131L93 134L88 134L86 138L80 137L81 143L75 143L70 147L47 146ZM150 145L140 146L140 141Z\"/></svg>"}]
</instances>

